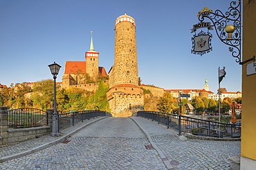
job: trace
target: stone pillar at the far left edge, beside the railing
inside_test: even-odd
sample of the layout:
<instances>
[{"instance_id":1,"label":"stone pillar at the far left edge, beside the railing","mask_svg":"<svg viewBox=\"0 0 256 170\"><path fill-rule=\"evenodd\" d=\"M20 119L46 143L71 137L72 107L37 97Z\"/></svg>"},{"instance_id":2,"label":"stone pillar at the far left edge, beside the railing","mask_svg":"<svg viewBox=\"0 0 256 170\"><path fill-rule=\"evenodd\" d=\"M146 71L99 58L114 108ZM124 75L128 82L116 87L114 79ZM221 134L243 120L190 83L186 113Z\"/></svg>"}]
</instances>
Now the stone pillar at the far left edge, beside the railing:
<instances>
[{"instance_id":1,"label":"stone pillar at the far left edge, beside the railing","mask_svg":"<svg viewBox=\"0 0 256 170\"><path fill-rule=\"evenodd\" d=\"M8 145L7 110L8 107L0 107L0 136L2 138L1 145Z\"/></svg>"}]
</instances>

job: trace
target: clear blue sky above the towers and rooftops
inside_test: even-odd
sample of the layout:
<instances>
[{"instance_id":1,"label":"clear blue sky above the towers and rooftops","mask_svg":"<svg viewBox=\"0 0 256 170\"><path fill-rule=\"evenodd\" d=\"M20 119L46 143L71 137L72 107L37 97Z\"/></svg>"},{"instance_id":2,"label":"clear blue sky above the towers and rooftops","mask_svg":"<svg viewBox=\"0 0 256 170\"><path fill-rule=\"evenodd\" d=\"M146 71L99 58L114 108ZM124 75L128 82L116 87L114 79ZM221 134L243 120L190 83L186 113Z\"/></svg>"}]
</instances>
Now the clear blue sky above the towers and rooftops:
<instances>
[{"instance_id":1,"label":"clear blue sky above the towers and rooftops","mask_svg":"<svg viewBox=\"0 0 256 170\"><path fill-rule=\"evenodd\" d=\"M91 31L99 66L114 61L114 24L127 12L136 20L138 68L142 83L164 89L218 89L218 67L226 67L221 87L241 92L241 65L212 33L212 52L191 54L192 25L204 7L226 12L229 0L0 0L0 83L53 78L48 65L85 61ZM207 20L206 20L207 21ZM209 20L210 21L210 20ZM204 28L204 31L207 31ZM199 32L199 30L197 31Z\"/></svg>"}]
</instances>

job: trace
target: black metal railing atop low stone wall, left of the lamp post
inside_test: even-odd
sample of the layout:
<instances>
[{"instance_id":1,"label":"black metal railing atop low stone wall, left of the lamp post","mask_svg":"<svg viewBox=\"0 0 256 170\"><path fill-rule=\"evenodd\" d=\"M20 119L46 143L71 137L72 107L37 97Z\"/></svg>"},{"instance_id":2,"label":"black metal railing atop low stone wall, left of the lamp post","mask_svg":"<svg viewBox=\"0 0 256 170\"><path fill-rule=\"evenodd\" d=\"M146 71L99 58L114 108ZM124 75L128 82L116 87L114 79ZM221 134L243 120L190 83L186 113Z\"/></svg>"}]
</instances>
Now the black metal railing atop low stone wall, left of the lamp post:
<instances>
[{"instance_id":1,"label":"black metal railing atop low stone wall, left of the lamp post","mask_svg":"<svg viewBox=\"0 0 256 170\"><path fill-rule=\"evenodd\" d=\"M46 111L33 108L11 109L7 111L8 127L41 127L48 125Z\"/></svg>"}]
</instances>

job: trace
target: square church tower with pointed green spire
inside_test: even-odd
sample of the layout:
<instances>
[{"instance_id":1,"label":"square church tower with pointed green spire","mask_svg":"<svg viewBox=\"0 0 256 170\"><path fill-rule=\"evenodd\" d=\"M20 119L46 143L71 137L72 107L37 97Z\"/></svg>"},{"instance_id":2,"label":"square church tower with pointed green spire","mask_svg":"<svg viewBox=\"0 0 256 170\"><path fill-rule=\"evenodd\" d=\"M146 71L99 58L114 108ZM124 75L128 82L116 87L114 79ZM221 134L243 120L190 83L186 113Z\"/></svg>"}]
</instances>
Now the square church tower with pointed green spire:
<instances>
[{"instance_id":1,"label":"square church tower with pointed green spire","mask_svg":"<svg viewBox=\"0 0 256 170\"><path fill-rule=\"evenodd\" d=\"M90 50L85 52L86 59L86 73L92 78L96 78L99 74L99 52L95 52L93 47L93 34L91 32L91 45Z\"/></svg>"}]
</instances>

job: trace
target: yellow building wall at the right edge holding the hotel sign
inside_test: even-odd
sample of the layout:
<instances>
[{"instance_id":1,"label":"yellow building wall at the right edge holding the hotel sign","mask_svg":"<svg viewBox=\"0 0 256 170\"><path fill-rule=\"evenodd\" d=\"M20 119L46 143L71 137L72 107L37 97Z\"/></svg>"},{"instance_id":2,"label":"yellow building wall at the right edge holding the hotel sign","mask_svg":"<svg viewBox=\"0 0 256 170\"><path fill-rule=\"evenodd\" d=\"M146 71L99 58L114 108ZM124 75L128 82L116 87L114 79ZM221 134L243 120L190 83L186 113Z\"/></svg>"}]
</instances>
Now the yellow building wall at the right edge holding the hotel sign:
<instances>
[{"instance_id":1,"label":"yellow building wall at the right edge holding the hotel sign","mask_svg":"<svg viewBox=\"0 0 256 170\"><path fill-rule=\"evenodd\" d=\"M243 3L243 61L256 56L256 1L244 0ZM246 67L250 61L242 65L243 114L241 116L241 167L240 169L255 169L256 167L256 74L247 75Z\"/></svg>"}]
</instances>

